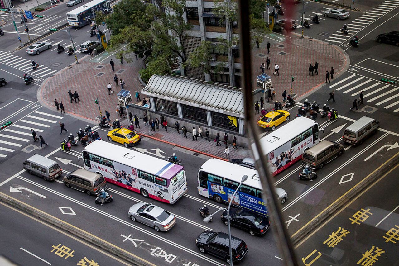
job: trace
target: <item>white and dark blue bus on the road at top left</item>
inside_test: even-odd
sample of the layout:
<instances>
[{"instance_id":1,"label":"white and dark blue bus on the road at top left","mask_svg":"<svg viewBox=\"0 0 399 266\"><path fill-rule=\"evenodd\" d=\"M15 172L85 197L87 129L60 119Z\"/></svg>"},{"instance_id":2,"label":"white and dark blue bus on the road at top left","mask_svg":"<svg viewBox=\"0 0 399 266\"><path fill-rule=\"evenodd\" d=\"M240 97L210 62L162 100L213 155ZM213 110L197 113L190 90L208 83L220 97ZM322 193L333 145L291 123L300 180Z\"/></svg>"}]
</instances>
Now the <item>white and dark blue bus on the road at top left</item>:
<instances>
[{"instance_id":1,"label":"white and dark blue bus on the road at top left","mask_svg":"<svg viewBox=\"0 0 399 266\"><path fill-rule=\"evenodd\" d=\"M94 21L93 13L100 10L105 15L111 12L111 0L93 0L68 12L68 25L80 28L91 24ZM101 23L101 21L97 23Z\"/></svg>"}]
</instances>

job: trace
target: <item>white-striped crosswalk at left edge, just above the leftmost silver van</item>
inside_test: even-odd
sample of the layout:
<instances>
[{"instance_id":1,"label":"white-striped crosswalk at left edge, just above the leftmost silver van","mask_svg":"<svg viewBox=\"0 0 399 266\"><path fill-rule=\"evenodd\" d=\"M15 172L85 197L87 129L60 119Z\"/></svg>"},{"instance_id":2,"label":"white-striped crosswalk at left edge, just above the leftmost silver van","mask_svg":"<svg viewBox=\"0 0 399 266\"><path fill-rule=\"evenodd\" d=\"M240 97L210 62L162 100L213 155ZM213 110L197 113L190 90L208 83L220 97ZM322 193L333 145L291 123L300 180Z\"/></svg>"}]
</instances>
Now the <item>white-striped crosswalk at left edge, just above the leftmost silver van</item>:
<instances>
[{"instance_id":1,"label":"white-striped crosswalk at left edge, just above the leftmost silver van","mask_svg":"<svg viewBox=\"0 0 399 266\"><path fill-rule=\"evenodd\" d=\"M0 130L0 158L6 158L17 148L28 145L28 142L33 142L31 129L36 131L37 136L43 135L46 129L56 125L60 119L63 117L36 110L11 126ZM36 143L39 145L38 142Z\"/></svg>"}]
</instances>

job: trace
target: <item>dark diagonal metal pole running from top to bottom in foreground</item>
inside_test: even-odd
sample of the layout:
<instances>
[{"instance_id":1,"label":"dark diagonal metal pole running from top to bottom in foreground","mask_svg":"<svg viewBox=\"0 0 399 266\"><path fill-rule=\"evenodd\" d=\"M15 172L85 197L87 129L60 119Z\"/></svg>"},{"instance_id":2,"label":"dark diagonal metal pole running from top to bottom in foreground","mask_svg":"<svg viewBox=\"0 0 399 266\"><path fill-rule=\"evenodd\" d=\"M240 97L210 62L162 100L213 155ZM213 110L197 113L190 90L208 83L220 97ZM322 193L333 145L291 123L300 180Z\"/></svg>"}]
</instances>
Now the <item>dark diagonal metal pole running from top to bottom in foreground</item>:
<instances>
[{"instance_id":1,"label":"dark diagonal metal pole running from top to bottom in foreground","mask_svg":"<svg viewBox=\"0 0 399 266\"><path fill-rule=\"evenodd\" d=\"M288 266L298 265L298 261L295 258L294 248L290 241L290 236L284 227L284 220L282 219L282 213L279 207L279 201L277 201L277 194L274 193L274 181L270 176L263 149L259 142L259 127L253 121L253 100L252 100L252 64L251 64L251 33L249 32L249 1L239 0L239 12L240 12L240 42L241 42L241 62L243 69L243 88L244 93L244 110L245 110L245 129L250 139L253 139L254 144L250 146L254 159L256 160L257 169L259 170L259 176L261 184L265 193L263 193L263 200L268 203L268 211L273 220L273 227L275 230L272 232L275 234L276 244L279 247L280 254L282 255L283 263Z\"/></svg>"}]
</instances>

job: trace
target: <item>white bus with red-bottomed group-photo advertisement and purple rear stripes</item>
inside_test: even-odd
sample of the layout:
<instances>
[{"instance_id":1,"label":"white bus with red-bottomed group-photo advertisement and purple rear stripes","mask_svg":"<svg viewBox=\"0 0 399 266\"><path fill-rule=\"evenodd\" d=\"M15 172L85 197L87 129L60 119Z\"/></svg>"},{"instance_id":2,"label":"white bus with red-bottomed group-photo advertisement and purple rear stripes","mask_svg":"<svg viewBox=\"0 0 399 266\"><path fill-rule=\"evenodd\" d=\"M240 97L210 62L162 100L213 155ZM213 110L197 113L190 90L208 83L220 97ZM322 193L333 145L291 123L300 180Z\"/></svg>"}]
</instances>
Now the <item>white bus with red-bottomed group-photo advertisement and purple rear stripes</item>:
<instances>
[{"instance_id":1,"label":"white bus with red-bottomed group-photo advertisement and purple rear stripes","mask_svg":"<svg viewBox=\"0 0 399 266\"><path fill-rule=\"evenodd\" d=\"M173 204L187 191L183 166L103 140L87 145L82 158L86 170L146 198Z\"/></svg>"}]
</instances>

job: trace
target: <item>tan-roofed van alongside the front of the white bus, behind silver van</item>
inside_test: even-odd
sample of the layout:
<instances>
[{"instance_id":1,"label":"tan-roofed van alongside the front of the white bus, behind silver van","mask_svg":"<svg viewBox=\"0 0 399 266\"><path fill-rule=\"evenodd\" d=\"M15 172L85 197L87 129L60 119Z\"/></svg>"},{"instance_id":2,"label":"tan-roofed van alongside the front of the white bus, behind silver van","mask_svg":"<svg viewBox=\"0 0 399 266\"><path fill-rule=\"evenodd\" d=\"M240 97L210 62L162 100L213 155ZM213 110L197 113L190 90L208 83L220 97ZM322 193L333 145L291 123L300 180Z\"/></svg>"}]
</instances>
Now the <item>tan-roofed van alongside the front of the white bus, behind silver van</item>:
<instances>
[{"instance_id":1,"label":"tan-roofed van alongside the front of the white bus, behind silver van","mask_svg":"<svg viewBox=\"0 0 399 266\"><path fill-rule=\"evenodd\" d=\"M85 169L74 170L63 178L67 187L86 192L87 195L98 194L101 189L107 189L107 183L102 175Z\"/></svg>"}]
</instances>

